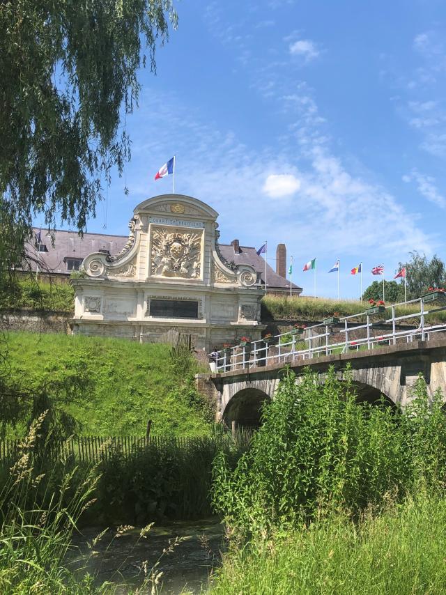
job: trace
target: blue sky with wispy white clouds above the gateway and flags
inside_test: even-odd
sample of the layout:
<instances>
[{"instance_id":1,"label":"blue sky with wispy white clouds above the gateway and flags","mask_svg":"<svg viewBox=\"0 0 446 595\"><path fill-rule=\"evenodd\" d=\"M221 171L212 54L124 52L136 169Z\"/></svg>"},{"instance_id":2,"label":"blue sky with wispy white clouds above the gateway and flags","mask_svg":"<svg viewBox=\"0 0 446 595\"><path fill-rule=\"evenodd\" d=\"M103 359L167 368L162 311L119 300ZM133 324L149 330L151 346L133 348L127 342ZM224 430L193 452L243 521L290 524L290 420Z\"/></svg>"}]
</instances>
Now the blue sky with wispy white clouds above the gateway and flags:
<instances>
[{"instance_id":1,"label":"blue sky with wispy white clouds above the gateway and flags","mask_svg":"<svg viewBox=\"0 0 446 595\"><path fill-rule=\"evenodd\" d=\"M132 160L89 231L126 234L174 153L176 192L219 213L222 242L278 242L293 281L355 297L411 250L445 258L446 6L440 0L220 0L176 4L178 30L128 116ZM125 196L123 188L128 186ZM271 263L274 265L274 263Z\"/></svg>"}]
</instances>

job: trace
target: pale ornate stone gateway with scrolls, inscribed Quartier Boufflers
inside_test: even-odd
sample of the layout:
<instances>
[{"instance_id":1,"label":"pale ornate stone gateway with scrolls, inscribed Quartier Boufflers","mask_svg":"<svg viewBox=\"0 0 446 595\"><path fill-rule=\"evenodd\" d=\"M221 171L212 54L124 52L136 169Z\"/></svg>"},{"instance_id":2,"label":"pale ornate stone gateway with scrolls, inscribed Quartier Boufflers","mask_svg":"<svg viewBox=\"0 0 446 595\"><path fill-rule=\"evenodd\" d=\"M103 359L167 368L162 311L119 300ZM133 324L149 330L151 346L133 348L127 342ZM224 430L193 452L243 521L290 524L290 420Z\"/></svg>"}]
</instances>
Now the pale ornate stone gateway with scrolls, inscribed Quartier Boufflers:
<instances>
[{"instance_id":1,"label":"pale ornate stone gateway with scrolls, inscribed Quartier Boufflers","mask_svg":"<svg viewBox=\"0 0 446 595\"><path fill-rule=\"evenodd\" d=\"M75 287L74 334L153 341L175 328L210 350L261 337L259 273L225 261L218 213L181 194L140 203L118 254L84 258Z\"/></svg>"}]
</instances>

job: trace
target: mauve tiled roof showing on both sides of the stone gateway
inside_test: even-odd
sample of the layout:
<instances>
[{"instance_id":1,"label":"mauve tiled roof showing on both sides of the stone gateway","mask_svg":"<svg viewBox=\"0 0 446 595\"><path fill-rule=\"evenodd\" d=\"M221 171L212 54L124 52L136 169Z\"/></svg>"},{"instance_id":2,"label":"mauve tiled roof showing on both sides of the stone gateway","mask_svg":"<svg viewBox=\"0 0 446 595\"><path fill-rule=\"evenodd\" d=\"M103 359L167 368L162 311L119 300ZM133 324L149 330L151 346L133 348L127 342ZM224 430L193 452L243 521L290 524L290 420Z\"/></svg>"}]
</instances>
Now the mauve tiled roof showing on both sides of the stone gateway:
<instances>
[{"instance_id":1,"label":"mauve tiled roof showing on both sides of the stone gateway","mask_svg":"<svg viewBox=\"0 0 446 595\"><path fill-rule=\"evenodd\" d=\"M39 233L38 228L33 229L36 236ZM82 258L91 254L92 252L99 252L100 250L108 250L113 256L118 254L128 240L127 235L108 235L106 233L84 233L81 238L76 231L63 231L57 229L54 232L54 247L51 244L51 238L47 231L40 232L41 243L45 244L48 252L39 252L39 261L43 263L42 268L47 268L51 272L65 273L68 275L70 271L67 270L64 258ZM261 274L263 283L265 282L265 261L256 249L248 246L240 246L240 254L234 252L233 245L219 244L220 252L223 258L229 263L234 262L236 265L251 265ZM35 254L33 254L35 256ZM284 277L277 275L270 265L266 265L266 275L268 287L270 288L289 288L290 282ZM293 284L293 289L302 291L298 285Z\"/></svg>"}]
</instances>

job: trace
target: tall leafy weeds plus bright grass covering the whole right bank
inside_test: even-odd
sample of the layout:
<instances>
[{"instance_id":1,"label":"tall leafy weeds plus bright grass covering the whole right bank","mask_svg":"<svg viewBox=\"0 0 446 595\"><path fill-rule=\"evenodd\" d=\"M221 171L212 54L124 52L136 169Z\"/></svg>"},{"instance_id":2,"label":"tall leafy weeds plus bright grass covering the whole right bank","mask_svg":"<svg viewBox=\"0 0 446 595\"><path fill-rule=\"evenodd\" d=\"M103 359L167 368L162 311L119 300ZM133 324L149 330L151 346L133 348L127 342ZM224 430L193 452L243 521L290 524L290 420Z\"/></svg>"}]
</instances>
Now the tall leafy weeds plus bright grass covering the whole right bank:
<instances>
[{"instance_id":1,"label":"tall leafy weeds plus bright grass covering the whole right bank","mask_svg":"<svg viewBox=\"0 0 446 595\"><path fill-rule=\"evenodd\" d=\"M446 416L420 377L404 411L357 403L351 373L287 373L213 502L233 543L212 594L442 594Z\"/></svg>"}]
</instances>

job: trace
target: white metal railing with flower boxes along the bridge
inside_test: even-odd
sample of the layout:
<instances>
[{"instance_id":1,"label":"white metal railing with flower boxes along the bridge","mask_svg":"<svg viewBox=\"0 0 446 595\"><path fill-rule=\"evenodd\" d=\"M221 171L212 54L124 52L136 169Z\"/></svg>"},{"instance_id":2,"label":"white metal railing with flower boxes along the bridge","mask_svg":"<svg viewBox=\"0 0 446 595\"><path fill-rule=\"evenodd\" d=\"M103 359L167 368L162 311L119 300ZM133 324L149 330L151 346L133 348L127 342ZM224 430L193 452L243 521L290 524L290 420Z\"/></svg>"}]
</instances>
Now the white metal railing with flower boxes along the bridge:
<instances>
[{"instance_id":1,"label":"white metal railing with flower boxes along the bridge","mask_svg":"<svg viewBox=\"0 0 446 595\"><path fill-rule=\"evenodd\" d=\"M339 318L339 323L343 323L344 329L332 331L333 325L324 325L318 323L305 328L303 335L292 334L291 330L282 334L276 334L270 337L267 342L265 339L258 339L242 345L241 343L231 348L222 349L210 354L211 360L215 363L217 372L227 372L238 369L252 369L268 364L290 363L305 360L312 360L315 357L323 355L333 355L337 353L346 353L349 350L372 350L377 346L396 345L397 343L410 343L415 339L429 341L431 335L438 332L446 332L446 322L437 325L426 325L426 316L434 312L446 310L445 305L435 309L426 310L424 308L423 298L401 302L385 307L385 318L376 318L376 315L367 314L366 311L360 314L351 314ZM395 316L395 310L398 306L407 306L409 304L420 304L419 309L411 314ZM387 318L387 312L390 318ZM348 326L352 318L365 316L366 321L362 325ZM371 318L374 318L371 320ZM402 320L415 318L419 320L419 325L415 329L405 329L397 331L397 323ZM334 325L334 326L337 326ZM390 332L372 334L378 325L392 325ZM373 328L375 326L375 329ZM322 331L322 332L319 332ZM357 338L357 333L361 332L364 337ZM351 333L355 333L355 339L351 339ZM343 341L331 342L334 334L344 335ZM317 343L317 344L316 344Z\"/></svg>"}]
</instances>

